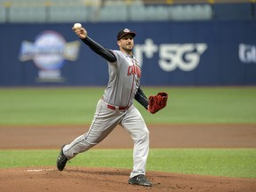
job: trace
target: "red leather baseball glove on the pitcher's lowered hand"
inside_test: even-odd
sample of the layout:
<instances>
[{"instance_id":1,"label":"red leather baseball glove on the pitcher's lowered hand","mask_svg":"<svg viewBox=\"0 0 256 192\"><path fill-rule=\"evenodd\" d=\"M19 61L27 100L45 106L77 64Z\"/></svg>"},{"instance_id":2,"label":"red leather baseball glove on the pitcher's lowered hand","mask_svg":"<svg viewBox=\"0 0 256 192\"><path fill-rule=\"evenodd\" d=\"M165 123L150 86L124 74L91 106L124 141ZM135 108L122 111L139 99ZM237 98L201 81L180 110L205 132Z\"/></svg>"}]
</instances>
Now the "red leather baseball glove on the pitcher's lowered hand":
<instances>
[{"instance_id":1,"label":"red leather baseball glove on the pitcher's lowered hand","mask_svg":"<svg viewBox=\"0 0 256 192\"><path fill-rule=\"evenodd\" d=\"M164 108L167 104L168 94L166 92L158 92L155 96L149 96L148 111L155 114L157 111Z\"/></svg>"}]
</instances>

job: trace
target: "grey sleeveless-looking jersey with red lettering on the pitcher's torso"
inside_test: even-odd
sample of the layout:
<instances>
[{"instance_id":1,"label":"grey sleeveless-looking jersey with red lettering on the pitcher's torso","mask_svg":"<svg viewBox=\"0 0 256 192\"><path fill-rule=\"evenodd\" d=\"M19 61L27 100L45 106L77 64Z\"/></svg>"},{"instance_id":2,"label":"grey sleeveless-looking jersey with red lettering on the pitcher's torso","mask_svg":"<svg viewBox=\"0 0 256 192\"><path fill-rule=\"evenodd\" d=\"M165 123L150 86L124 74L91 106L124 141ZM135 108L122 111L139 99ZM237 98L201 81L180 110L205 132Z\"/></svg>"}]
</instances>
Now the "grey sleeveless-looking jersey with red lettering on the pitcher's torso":
<instances>
[{"instance_id":1,"label":"grey sleeveless-looking jersey with red lettering on the pitcher's torso","mask_svg":"<svg viewBox=\"0 0 256 192\"><path fill-rule=\"evenodd\" d=\"M140 66L134 56L124 52L112 51L116 62L108 62L108 86L103 100L119 107L132 105L134 96L140 85Z\"/></svg>"}]
</instances>

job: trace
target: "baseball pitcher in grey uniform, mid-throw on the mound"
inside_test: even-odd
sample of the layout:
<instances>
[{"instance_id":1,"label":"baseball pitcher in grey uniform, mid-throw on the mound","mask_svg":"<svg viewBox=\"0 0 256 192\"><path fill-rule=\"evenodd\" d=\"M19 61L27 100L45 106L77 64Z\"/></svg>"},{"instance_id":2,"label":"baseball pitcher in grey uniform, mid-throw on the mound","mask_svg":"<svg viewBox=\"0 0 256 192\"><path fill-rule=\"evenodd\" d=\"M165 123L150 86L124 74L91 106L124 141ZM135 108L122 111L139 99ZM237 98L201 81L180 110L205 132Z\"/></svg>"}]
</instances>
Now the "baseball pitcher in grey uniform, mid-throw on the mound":
<instances>
[{"instance_id":1,"label":"baseball pitcher in grey uniform, mid-throw on the mound","mask_svg":"<svg viewBox=\"0 0 256 192\"><path fill-rule=\"evenodd\" d=\"M159 92L148 99L142 92L140 63L132 54L133 38L136 34L130 29L124 28L117 33L119 50L109 50L96 43L87 36L87 31L81 25L74 26L73 30L93 52L107 60L109 79L103 97L96 106L88 132L60 149L58 170L62 171L67 161L77 154L99 144L119 124L129 132L134 141L133 169L128 183L151 187L152 183L145 176L149 150L148 127L132 102L133 99L137 100L150 113L155 114L166 106L168 95Z\"/></svg>"}]
</instances>

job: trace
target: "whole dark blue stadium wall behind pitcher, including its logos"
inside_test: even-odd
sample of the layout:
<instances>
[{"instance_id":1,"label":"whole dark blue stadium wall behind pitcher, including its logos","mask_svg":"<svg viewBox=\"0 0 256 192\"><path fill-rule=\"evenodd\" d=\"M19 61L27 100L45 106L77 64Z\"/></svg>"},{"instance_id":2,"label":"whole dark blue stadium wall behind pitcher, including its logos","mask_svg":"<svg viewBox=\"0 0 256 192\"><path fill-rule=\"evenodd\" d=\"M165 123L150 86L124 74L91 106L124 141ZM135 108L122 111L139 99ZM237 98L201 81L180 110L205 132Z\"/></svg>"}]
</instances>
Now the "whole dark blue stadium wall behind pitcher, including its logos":
<instances>
[{"instance_id":1,"label":"whole dark blue stadium wall behind pitcher, including its logos","mask_svg":"<svg viewBox=\"0 0 256 192\"><path fill-rule=\"evenodd\" d=\"M109 49L120 28L132 28L143 85L256 84L255 20L82 24ZM107 62L72 25L0 24L0 86L107 84Z\"/></svg>"}]
</instances>

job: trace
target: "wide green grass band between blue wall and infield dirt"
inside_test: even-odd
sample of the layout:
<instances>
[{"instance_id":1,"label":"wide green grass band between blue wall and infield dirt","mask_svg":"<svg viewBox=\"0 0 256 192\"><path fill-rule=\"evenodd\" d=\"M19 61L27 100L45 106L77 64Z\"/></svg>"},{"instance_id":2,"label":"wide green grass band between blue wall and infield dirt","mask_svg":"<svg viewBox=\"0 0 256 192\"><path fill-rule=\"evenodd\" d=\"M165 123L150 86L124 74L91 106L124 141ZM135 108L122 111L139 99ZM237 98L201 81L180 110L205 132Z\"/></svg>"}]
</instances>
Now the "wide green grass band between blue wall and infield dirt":
<instances>
[{"instance_id":1,"label":"wide green grass band between blue wall and infield dirt","mask_svg":"<svg viewBox=\"0 0 256 192\"><path fill-rule=\"evenodd\" d=\"M0 89L0 125L90 124L104 88ZM148 124L255 124L256 87L144 88L146 95L168 92L168 106Z\"/></svg>"}]
</instances>

